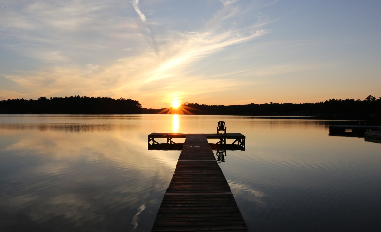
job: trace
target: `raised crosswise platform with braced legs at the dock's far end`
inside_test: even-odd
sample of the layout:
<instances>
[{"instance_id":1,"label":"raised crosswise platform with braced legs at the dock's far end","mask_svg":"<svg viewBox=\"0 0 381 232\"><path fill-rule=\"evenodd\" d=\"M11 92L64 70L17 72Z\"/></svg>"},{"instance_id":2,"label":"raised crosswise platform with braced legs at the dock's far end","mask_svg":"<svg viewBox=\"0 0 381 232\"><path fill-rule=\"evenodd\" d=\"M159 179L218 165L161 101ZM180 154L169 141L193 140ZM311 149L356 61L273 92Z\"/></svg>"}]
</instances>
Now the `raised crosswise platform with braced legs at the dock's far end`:
<instances>
[{"instance_id":1,"label":"raised crosswise platform with braced legs at the dock's far end","mask_svg":"<svg viewBox=\"0 0 381 232\"><path fill-rule=\"evenodd\" d=\"M148 135L148 149L152 149L152 145L160 144L155 138L166 138L167 144L176 144L172 139L173 138L186 138L188 134L185 133L150 133ZM246 137L241 133L209 133L209 134L200 134L205 135L208 138L216 138L219 141L216 144L226 144L227 139L234 139L231 144L237 144L245 149Z\"/></svg>"}]
</instances>

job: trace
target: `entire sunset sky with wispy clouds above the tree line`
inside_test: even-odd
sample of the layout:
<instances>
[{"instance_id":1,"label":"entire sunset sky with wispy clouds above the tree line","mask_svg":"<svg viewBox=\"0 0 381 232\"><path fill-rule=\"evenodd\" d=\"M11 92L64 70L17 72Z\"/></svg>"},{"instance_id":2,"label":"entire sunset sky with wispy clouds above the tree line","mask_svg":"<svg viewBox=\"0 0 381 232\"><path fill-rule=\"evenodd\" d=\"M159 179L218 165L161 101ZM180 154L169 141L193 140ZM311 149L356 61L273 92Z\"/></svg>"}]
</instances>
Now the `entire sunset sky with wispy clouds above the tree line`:
<instances>
[{"instance_id":1,"label":"entire sunset sky with wispy clouds above the tree line","mask_svg":"<svg viewBox=\"0 0 381 232\"><path fill-rule=\"evenodd\" d=\"M0 0L0 100L381 97L379 0Z\"/></svg>"}]
</instances>

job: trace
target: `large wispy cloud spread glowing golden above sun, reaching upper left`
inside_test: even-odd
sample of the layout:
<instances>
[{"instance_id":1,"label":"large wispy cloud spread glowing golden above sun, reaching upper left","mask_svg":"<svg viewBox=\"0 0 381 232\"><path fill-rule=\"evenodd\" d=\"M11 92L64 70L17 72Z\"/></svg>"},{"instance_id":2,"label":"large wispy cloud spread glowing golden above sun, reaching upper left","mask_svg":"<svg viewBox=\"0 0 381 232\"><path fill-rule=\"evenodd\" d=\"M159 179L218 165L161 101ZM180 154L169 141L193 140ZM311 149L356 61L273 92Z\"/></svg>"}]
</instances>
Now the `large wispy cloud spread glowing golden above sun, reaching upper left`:
<instances>
[{"instance_id":1,"label":"large wispy cloud spread glowing golden above sun, reaching upper left","mask_svg":"<svg viewBox=\"0 0 381 232\"><path fill-rule=\"evenodd\" d=\"M68 5L54 1L42 5L31 3L24 8L26 15L19 13L9 19L16 20L19 16L21 21L12 27L22 32L9 37L26 44L14 46L14 49L43 60L45 64L37 70L8 74L6 78L29 89L30 97L128 97L139 100L143 107L162 107L163 99L168 99L173 92L191 98L238 89L247 84L247 81L234 78L240 70L207 75L192 73L192 65L199 60L208 62L206 58L212 54L265 35L268 33L263 29L266 23L235 28L230 21L239 21L243 9L234 1L224 2L223 7L199 30L162 31L155 33L153 38L152 28L134 21L134 11L141 21L146 21L138 3L138 0L133 1L130 17L110 18L104 13L108 6L101 2L85 5L77 1ZM30 20L32 18L34 21ZM160 24L150 24L152 27L155 25ZM42 30L44 27L53 33ZM224 78L219 78L221 76Z\"/></svg>"}]
</instances>

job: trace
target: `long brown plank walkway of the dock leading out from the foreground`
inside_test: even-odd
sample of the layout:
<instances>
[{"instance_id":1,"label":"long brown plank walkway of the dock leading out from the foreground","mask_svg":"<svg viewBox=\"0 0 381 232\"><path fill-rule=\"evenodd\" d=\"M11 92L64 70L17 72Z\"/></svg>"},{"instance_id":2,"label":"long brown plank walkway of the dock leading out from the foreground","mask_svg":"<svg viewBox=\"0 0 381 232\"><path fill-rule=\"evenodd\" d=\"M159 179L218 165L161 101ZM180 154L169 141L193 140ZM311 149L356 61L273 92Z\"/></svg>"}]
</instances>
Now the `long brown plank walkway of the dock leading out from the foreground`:
<instances>
[{"instance_id":1,"label":"long brown plank walkway of the dock leading out from the foreground","mask_svg":"<svg viewBox=\"0 0 381 232\"><path fill-rule=\"evenodd\" d=\"M186 135L151 231L248 231L206 134Z\"/></svg>"}]
</instances>

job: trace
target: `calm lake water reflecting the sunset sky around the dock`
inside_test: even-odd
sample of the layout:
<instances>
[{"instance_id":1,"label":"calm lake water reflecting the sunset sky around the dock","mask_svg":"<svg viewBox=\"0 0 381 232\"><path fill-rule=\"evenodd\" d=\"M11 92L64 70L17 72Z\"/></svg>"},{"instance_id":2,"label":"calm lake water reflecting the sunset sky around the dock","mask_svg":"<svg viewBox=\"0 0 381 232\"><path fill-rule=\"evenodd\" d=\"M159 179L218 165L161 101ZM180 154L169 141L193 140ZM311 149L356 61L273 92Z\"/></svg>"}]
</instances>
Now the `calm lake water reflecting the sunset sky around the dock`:
<instances>
[{"instance_id":1,"label":"calm lake water reflecting the sunset sky around the dock","mask_svg":"<svg viewBox=\"0 0 381 232\"><path fill-rule=\"evenodd\" d=\"M250 231L381 230L381 144L328 136L354 121L3 114L0 231L150 231L180 151L148 150L147 135L221 120L246 136L219 165Z\"/></svg>"}]
</instances>

